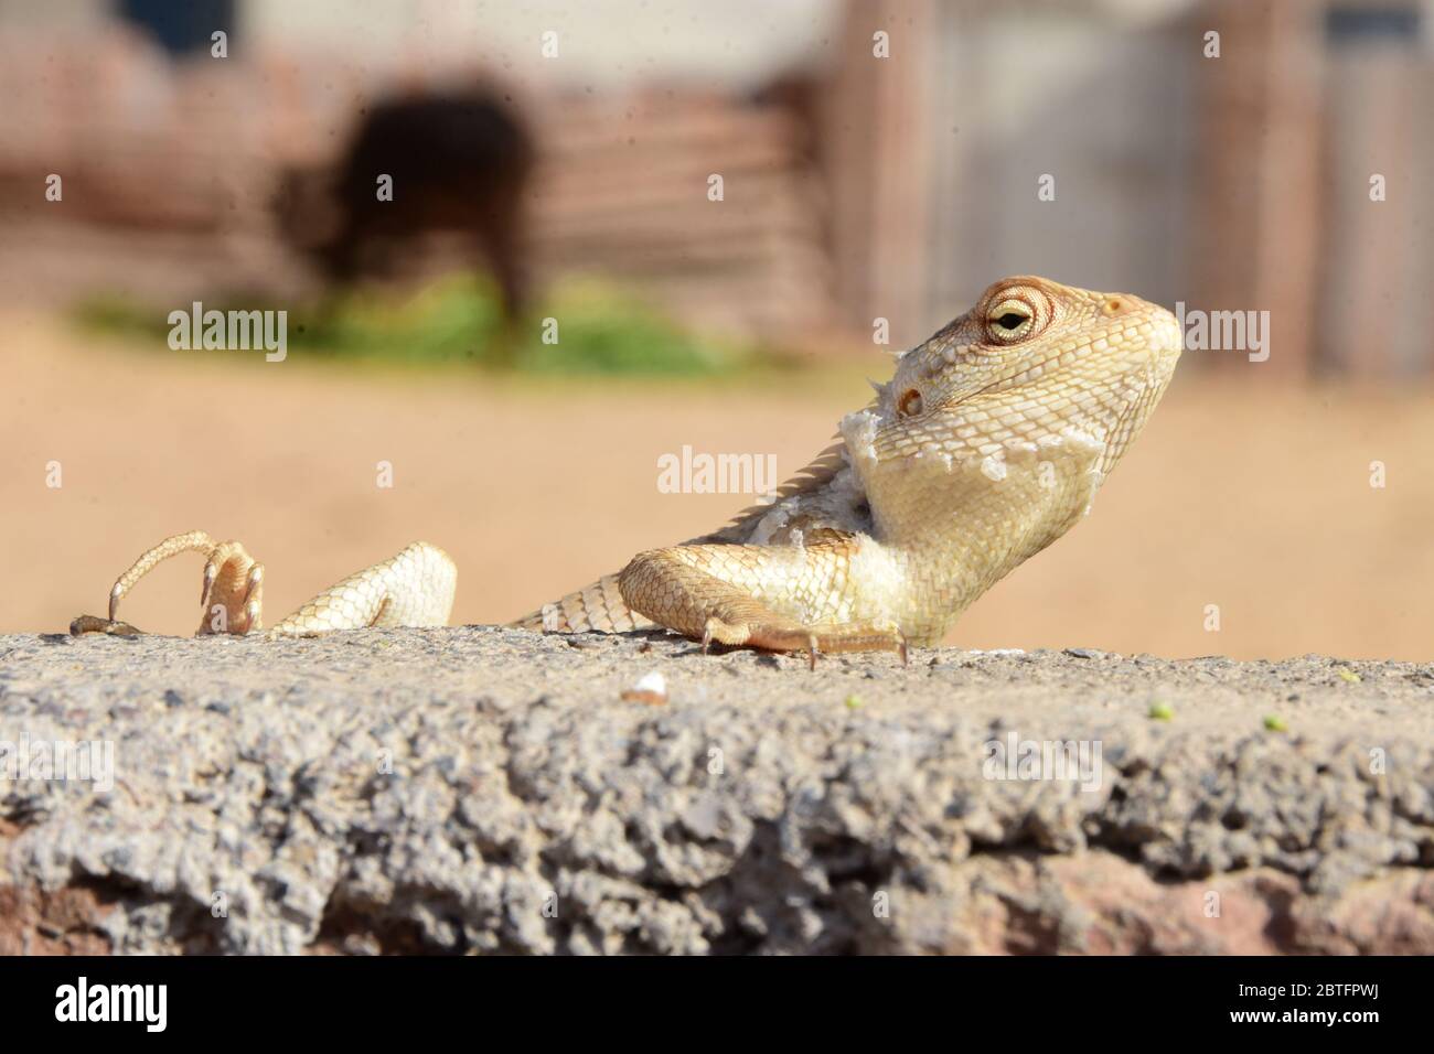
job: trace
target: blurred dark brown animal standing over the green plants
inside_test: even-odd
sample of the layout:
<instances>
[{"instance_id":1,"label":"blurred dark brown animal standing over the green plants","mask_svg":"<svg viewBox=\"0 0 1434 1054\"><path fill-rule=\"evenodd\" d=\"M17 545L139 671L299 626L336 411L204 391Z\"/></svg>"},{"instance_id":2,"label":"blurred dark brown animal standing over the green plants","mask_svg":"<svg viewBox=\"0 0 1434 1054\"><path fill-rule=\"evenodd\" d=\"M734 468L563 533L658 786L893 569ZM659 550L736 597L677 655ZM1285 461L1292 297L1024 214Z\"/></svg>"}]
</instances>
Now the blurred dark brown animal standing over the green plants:
<instances>
[{"instance_id":1,"label":"blurred dark brown animal standing over the green plants","mask_svg":"<svg viewBox=\"0 0 1434 1054\"><path fill-rule=\"evenodd\" d=\"M435 231L469 234L515 318L526 291L522 196L532 166L528 132L495 98L391 99L367 110L330 178L284 175L280 225L341 284L374 270L376 247ZM393 178L391 201L379 196L384 175Z\"/></svg>"}]
</instances>

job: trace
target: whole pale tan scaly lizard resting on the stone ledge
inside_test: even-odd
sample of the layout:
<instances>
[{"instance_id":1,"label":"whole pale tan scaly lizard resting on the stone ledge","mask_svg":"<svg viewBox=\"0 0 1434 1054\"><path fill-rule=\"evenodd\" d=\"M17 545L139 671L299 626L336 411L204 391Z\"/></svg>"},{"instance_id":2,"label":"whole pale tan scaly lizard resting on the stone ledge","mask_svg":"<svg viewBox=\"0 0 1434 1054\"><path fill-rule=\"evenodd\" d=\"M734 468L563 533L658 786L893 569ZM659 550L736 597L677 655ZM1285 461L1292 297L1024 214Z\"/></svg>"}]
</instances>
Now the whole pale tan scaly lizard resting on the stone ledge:
<instances>
[{"instance_id":1,"label":"whole pale tan scaly lizard resting on the stone ledge","mask_svg":"<svg viewBox=\"0 0 1434 1054\"><path fill-rule=\"evenodd\" d=\"M641 552L511 627L619 632L652 625L770 651L939 642L997 581L1070 531L1144 427L1183 338L1174 315L1124 293L1004 278L965 314L896 356L875 399L771 500L721 529ZM119 598L161 559L208 552L201 632L260 628L262 565L202 532L146 552ZM442 625L456 568L416 542L350 575L268 632ZM222 615L222 617L221 617Z\"/></svg>"}]
</instances>

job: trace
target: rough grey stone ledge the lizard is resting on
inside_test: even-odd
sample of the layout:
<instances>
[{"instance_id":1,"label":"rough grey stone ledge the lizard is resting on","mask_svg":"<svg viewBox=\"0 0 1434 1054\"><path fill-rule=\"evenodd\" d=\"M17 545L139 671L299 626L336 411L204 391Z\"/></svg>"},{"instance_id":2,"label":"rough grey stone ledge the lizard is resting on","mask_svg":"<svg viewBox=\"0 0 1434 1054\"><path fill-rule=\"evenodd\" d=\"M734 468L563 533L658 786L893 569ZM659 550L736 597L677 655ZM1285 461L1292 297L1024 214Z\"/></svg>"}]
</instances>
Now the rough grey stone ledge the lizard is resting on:
<instances>
[{"instance_id":1,"label":"rough grey stone ledge the lizard is resting on","mask_svg":"<svg viewBox=\"0 0 1434 1054\"><path fill-rule=\"evenodd\" d=\"M0 741L0 952L1434 952L1434 664L11 635Z\"/></svg>"}]
</instances>

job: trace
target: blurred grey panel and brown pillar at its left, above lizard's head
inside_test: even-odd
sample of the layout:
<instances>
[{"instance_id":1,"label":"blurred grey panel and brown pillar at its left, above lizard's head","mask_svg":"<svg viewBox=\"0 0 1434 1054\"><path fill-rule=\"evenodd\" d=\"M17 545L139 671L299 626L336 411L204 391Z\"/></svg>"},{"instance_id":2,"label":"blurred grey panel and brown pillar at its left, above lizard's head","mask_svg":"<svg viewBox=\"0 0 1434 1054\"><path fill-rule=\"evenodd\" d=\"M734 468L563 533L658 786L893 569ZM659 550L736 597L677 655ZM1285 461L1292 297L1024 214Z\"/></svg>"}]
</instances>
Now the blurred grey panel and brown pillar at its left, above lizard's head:
<instances>
[{"instance_id":1,"label":"blurred grey panel and brown pillar at its left, above lizard's head","mask_svg":"<svg viewBox=\"0 0 1434 1054\"><path fill-rule=\"evenodd\" d=\"M893 337L911 343L1008 274L1180 298L1199 54L1187 7L850 3L830 128L852 321L899 318ZM882 30L892 57L872 62Z\"/></svg>"}]
</instances>

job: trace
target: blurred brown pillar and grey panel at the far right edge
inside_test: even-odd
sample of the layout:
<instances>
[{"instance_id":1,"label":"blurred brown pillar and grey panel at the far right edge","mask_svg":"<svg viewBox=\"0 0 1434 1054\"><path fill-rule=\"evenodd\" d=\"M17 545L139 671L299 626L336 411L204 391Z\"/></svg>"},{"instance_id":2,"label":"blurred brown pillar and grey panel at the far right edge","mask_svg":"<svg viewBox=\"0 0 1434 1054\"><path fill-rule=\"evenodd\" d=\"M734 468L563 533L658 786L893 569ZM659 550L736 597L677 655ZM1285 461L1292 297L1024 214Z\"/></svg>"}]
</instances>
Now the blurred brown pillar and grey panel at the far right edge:
<instances>
[{"instance_id":1,"label":"blurred brown pillar and grey panel at the far right edge","mask_svg":"<svg viewBox=\"0 0 1434 1054\"><path fill-rule=\"evenodd\" d=\"M1219 0L1196 22L1226 66L1197 82L1187 300L1271 310L1296 373L1428 374L1434 4Z\"/></svg>"}]
</instances>

